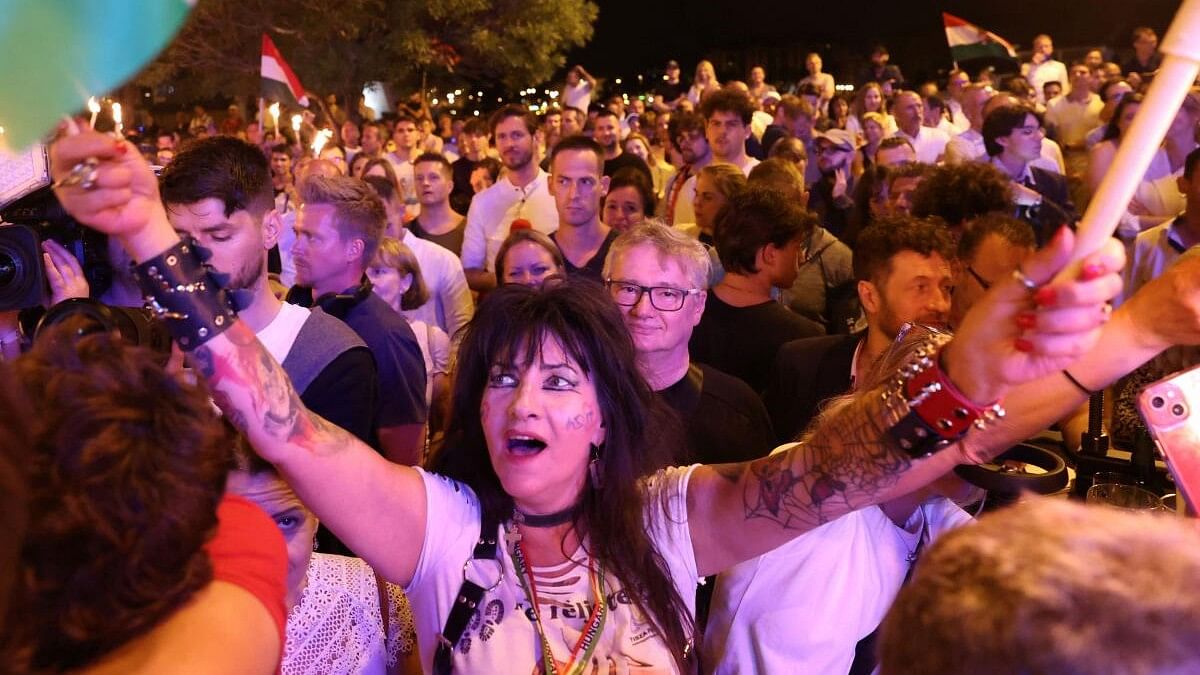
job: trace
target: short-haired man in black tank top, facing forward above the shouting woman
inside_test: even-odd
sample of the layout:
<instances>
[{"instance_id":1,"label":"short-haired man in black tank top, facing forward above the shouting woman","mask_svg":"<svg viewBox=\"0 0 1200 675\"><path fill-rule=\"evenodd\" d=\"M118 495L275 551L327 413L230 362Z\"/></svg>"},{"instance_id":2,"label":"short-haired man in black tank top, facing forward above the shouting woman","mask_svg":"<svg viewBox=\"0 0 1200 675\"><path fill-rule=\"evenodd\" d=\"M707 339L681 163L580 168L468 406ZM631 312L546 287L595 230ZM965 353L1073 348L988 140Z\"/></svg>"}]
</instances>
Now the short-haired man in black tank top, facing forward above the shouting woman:
<instances>
[{"instance_id":1,"label":"short-haired man in black tank top, facing forward above the shouting woman","mask_svg":"<svg viewBox=\"0 0 1200 675\"><path fill-rule=\"evenodd\" d=\"M601 173L604 150L586 136L564 138L550 156L550 193L558 209L558 231L550 235L563 253L566 274L600 281L617 231L600 221L608 192Z\"/></svg>"}]
</instances>

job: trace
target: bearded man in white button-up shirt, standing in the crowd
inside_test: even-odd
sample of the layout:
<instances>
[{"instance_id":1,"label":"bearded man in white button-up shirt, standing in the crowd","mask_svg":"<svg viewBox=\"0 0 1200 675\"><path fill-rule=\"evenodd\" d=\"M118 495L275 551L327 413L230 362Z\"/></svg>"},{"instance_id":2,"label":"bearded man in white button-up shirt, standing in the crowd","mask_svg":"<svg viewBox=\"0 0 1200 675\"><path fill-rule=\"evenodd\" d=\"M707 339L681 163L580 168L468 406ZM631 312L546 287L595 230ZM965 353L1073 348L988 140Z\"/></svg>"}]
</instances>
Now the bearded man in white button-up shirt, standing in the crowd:
<instances>
[{"instance_id":1,"label":"bearded man in white button-up shirt, standing in the crowd","mask_svg":"<svg viewBox=\"0 0 1200 675\"><path fill-rule=\"evenodd\" d=\"M467 211L462 267L475 291L496 287L496 253L514 226L542 234L558 229L558 210L550 196L548 174L538 167L538 119L523 106L505 106L492 114L492 138L506 169L494 185L475 195Z\"/></svg>"}]
</instances>

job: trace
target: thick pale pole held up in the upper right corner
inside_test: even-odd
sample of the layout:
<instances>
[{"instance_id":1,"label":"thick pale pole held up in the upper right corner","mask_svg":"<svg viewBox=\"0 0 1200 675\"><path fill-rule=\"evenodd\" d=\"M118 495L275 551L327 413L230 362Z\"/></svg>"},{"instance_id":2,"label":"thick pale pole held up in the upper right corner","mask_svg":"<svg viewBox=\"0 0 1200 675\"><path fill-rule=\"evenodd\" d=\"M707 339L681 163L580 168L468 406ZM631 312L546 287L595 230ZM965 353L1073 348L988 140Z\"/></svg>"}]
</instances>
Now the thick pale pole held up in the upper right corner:
<instances>
[{"instance_id":1,"label":"thick pale pole held up in the upper right corner","mask_svg":"<svg viewBox=\"0 0 1200 675\"><path fill-rule=\"evenodd\" d=\"M1079 223L1073 255L1076 262L1063 274L1074 275L1078 261L1098 251L1112 237L1171 120L1180 112L1183 97L1195 82L1200 72L1200 0L1184 0L1160 49L1163 64Z\"/></svg>"}]
</instances>

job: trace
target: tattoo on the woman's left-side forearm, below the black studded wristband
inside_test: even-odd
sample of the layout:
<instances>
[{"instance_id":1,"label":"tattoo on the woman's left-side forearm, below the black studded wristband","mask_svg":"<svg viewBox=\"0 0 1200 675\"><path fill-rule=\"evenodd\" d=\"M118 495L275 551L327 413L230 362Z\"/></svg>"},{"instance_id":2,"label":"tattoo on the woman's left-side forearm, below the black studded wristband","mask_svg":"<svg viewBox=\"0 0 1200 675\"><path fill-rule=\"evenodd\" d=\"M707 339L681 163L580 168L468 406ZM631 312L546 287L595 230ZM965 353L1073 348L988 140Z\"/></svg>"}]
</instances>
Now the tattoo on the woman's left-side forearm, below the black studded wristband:
<instances>
[{"instance_id":1,"label":"tattoo on the woman's left-side forearm, below the black studded wristband","mask_svg":"<svg viewBox=\"0 0 1200 675\"><path fill-rule=\"evenodd\" d=\"M192 362L238 429L256 443L290 443L318 454L352 442L347 432L304 407L287 372L245 324L235 324L226 335L230 351L217 353L204 345L192 352Z\"/></svg>"}]
</instances>

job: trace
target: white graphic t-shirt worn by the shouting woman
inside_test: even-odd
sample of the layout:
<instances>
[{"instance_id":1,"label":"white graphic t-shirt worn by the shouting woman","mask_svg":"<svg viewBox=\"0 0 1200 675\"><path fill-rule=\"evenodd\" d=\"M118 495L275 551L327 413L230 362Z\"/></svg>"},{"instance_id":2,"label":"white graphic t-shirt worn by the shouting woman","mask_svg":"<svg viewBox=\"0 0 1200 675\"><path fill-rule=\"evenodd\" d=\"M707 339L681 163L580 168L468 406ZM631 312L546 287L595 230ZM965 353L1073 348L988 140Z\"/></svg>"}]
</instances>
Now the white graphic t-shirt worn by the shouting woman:
<instances>
[{"instance_id":1,"label":"white graphic t-shirt worn by the shouting woman","mask_svg":"<svg viewBox=\"0 0 1200 675\"><path fill-rule=\"evenodd\" d=\"M671 580L689 611L695 611L696 557L688 528L688 479L691 467L660 471L647 484L646 524L650 542L666 561ZM418 644L425 670L432 671L438 634L462 586L463 562L470 558L479 534L479 501L466 485L421 472L428 502L425 545L412 584L406 589L416 619ZM666 496L666 498L661 498ZM664 509L664 504L666 509ZM503 526L497 532L504 542ZM533 613L517 578L511 554L503 551L503 579L488 591L454 650L455 673L541 673L541 643ZM534 567L539 611L559 670L592 614L594 596L587 556L582 565ZM492 574L494 565L473 568ZM481 580L481 579L478 579ZM608 613L586 673L676 673L676 661L617 580L606 575Z\"/></svg>"}]
</instances>

